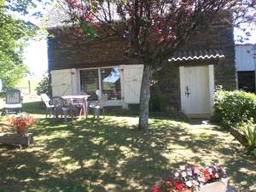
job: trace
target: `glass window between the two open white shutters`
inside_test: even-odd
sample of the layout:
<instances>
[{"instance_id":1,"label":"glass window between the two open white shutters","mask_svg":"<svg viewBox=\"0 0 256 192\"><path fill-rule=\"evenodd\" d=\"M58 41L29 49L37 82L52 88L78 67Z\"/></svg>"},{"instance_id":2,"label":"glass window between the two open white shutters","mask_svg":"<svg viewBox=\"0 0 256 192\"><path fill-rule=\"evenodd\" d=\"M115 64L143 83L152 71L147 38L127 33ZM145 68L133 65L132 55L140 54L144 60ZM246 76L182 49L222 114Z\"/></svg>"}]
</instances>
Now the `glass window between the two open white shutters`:
<instances>
[{"instance_id":1,"label":"glass window between the two open white shutters","mask_svg":"<svg viewBox=\"0 0 256 192\"><path fill-rule=\"evenodd\" d=\"M119 67L81 70L80 85L81 91L88 93L93 100L96 99L96 90L108 94L108 100L121 99Z\"/></svg>"}]
</instances>

